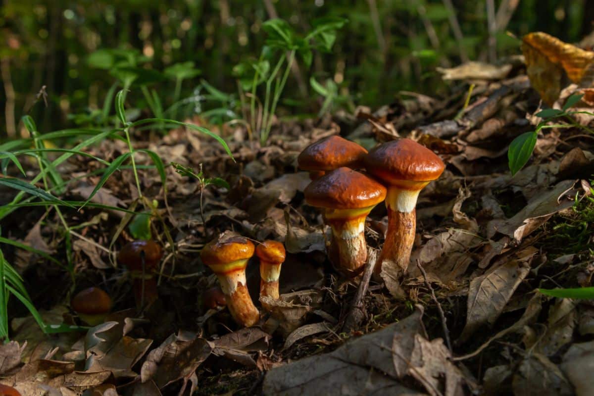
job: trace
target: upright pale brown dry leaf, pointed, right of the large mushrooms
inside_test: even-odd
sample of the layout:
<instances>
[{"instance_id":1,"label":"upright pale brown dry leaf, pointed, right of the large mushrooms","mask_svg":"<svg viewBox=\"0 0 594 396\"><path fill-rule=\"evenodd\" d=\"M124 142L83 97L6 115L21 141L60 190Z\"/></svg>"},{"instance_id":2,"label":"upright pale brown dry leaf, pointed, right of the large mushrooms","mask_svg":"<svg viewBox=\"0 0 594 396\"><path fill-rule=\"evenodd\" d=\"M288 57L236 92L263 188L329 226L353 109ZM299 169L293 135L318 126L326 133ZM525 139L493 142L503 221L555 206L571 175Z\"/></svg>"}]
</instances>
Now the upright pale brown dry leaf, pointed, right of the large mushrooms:
<instances>
[{"instance_id":1,"label":"upright pale brown dry leaf, pointed, right of the large mushrooms","mask_svg":"<svg viewBox=\"0 0 594 396\"><path fill-rule=\"evenodd\" d=\"M511 295L530 271L536 249L528 248L522 259L512 259L470 281L466 325L459 342L466 341L479 327L493 325Z\"/></svg>"}]
</instances>

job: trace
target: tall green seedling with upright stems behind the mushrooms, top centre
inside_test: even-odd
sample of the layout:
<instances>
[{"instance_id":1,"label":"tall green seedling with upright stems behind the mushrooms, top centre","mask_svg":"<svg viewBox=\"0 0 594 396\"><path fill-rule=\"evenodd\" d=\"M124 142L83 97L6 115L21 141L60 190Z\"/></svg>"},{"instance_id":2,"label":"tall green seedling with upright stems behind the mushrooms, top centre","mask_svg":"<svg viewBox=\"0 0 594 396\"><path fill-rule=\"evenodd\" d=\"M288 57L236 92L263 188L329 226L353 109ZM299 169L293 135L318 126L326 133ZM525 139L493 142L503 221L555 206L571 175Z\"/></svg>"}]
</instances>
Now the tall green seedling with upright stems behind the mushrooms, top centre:
<instances>
[{"instance_id":1,"label":"tall green seedling with upright stems behind the mushrooms, top centre","mask_svg":"<svg viewBox=\"0 0 594 396\"><path fill-rule=\"evenodd\" d=\"M282 19L271 19L262 25L268 37L260 58L253 62L244 61L234 69L242 89L249 91L250 126L252 131L257 132L260 144L265 145L268 141L273 117L295 59L309 68L313 51L330 52L337 30L346 22L343 18L316 20L305 36L297 34ZM264 84L264 100L258 100L261 111L257 112L257 87L261 84Z\"/></svg>"}]
</instances>

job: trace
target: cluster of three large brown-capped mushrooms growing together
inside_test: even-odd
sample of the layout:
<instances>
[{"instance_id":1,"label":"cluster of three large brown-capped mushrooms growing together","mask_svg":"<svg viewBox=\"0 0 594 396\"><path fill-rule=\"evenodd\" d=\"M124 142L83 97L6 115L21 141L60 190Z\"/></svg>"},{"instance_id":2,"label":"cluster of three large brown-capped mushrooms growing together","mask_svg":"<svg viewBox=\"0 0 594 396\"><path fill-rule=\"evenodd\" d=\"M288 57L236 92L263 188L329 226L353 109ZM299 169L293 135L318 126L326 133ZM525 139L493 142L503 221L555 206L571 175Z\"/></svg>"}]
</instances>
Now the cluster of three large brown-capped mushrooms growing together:
<instances>
[{"instance_id":1,"label":"cluster of three large brown-capped mushrooms growing together","mask_svg":"<svg viewBox=\"0 0 594 396\"><path fill-rule=\"evenodd\" d=\"M321 208L331 227L328 253L334 267L349 277L361 273L367 259L365 218L385 199L386 242L374 273L386 267L392 274L405 273L415 241L416 201L444 171L440 157L410 139L389 141L368 152L333 135L305 148L298 164L312 179L305 201Z\"/></svg>"}]
</instances>

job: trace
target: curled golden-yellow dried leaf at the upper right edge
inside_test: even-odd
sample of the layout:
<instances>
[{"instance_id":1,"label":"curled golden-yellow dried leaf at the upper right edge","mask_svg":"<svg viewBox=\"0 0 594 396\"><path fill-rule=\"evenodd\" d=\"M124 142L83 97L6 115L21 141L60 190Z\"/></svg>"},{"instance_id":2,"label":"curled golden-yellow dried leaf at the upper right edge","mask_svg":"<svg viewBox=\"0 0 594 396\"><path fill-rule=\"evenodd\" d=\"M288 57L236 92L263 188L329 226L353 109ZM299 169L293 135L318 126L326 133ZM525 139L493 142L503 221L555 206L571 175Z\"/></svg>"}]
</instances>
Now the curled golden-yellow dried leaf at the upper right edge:
<instances>
[{"instance_id":1,"label":"curled golden-yellow dried leaf at the upper right edge","mask_svg":"<svg viewBox=\"0 0 594 396\"><path fill-rule=\"evenodd\" d=\"M594 81L594 52L564 43L556 37L537 31L522 39L522 52L526 58L528 77L542 100L552 105L569 80L589 87Z\"/></svg>"}]
</instances>

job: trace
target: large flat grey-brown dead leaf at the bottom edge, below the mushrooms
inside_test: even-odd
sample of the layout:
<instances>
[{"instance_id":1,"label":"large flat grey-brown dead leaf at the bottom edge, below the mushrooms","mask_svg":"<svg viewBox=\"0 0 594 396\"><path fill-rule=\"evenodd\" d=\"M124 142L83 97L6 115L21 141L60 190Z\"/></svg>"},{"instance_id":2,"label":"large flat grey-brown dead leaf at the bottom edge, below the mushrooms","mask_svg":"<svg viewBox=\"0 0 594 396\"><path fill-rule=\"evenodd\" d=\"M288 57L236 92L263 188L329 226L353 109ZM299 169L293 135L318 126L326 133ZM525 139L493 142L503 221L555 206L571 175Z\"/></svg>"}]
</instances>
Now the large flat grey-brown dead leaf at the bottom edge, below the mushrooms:
<instances>
[{"instance_id":1,"label":"large flat grey-brown dead leaf at the bottom edge, below the mushrooms","mask_svg":"<svg viewBox=\"0 0 594 396\"><path fill-rule=\"evenodd\" d=\"M333 352L270 370L263 393L273 395L421 395L400 384L415 335L424 332L422 308L383 330L349 341ZM395 355L400 354L399 360Z\"/></svg>"}]
</instances>

